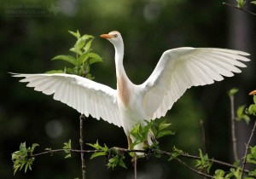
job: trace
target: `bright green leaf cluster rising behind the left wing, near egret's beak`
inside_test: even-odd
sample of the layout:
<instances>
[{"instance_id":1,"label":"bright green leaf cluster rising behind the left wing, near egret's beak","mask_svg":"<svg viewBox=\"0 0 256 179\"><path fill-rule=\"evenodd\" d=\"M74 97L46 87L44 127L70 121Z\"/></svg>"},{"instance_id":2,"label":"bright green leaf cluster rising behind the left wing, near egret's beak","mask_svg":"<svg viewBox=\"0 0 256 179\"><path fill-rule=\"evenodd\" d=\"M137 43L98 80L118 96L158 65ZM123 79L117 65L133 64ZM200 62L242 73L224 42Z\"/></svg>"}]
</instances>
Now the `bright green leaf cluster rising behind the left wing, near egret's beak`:
<instances>
[{"instance_id":1,"label":"bright green leaf cluster rising behind the left wing, near egret's beak","mask_svg":"<svg viewBox=\"0 0 256 179\"><path fill-rule=\"evenodd\" d=\"M69 33L77 38L76 43L69 49L69 51L73 52L73 55L56 55L52 60L66 61L73 67L65 67L64 70L53 70L47 73L69 73L92 79L90 65L96 62L102 62L102 57L93 53L90 48L94 37L87 34L81 36L79 31L69 31Z\"/></svg>"}]
</instances>

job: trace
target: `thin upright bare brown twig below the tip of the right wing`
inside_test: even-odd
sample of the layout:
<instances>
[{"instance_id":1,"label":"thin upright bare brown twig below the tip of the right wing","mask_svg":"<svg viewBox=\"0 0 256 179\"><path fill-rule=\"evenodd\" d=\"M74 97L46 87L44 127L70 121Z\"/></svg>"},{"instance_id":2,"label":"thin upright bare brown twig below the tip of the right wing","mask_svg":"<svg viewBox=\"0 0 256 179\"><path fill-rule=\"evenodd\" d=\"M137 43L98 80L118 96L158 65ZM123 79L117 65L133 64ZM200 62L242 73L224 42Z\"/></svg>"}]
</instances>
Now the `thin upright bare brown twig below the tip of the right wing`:
<instances>
[{"instance_id":1,"label":"thin upright bare brown twig below the tip of the right wing","mask_svg":"<svg viewBox=\"0 0 256 179\"><path fill-rule=\"evenodd\" d=\"M233 144L233 154L234 159L238 159L237 147L236 147L236 116L234 107L234 95L230 95L230 113L231 113L231 134L232 134L232 144Z\"/></svg>"}]
</instances>

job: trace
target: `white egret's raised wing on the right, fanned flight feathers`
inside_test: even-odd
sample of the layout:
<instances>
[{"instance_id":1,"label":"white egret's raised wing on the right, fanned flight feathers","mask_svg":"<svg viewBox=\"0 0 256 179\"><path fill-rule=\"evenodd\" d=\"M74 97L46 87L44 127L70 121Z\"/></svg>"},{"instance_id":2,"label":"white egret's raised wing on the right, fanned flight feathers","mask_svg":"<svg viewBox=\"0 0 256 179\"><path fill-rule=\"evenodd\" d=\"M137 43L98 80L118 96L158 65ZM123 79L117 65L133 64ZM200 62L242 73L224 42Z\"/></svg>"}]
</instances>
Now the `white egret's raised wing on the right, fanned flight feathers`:
<instances>
[{"instance_id":1,"label":"white egret's raised wing on the right, fanned flight feathers","mask_svg":"<svg viewBox=\"0 0 256 179\"><path fill-rule=\"evenodd\" d=\"M241 61L250 61L244 55L249 54L231 49L167 50L154 72L141 84L147 119L165 116L173 103L191 86L213 84L223 80L223 76L231 77L233 72L241 72L238 67L246 67Z\"/></svg>"}]
</instances>

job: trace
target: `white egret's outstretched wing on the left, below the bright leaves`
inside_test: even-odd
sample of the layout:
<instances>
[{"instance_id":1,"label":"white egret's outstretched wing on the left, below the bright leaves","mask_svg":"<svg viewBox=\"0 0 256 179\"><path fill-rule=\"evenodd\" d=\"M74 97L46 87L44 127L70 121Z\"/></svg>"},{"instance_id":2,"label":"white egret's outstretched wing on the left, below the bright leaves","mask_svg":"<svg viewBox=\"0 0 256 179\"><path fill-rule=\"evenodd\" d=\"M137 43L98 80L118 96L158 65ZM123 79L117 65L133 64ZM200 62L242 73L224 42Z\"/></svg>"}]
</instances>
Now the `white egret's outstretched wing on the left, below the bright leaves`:
<instances>
[{"instance_id":1,"label":"white egret's outstretched wing on the left, below the bright leaves","mask_svg":"<svg viewBox=\"0 0 256 179\"><path fill-rule=\"evenodd\" d=\"M79 113L89 114L93 118L102 118L108 123L121 126L116 90L98 84L87 78L77 75L55 74L14 74L14 77L23 78L20 82L28 82L26 86L42 91L45 95L53 95L76 109Z\"/></svg>"}]
</instances>

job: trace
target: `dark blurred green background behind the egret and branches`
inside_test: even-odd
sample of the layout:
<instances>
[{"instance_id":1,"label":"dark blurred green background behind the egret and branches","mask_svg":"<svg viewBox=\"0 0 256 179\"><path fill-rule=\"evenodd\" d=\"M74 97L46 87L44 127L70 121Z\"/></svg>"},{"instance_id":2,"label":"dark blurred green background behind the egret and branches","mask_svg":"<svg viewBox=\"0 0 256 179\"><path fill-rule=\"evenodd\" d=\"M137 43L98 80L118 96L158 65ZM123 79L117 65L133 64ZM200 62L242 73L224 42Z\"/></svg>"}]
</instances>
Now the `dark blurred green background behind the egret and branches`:
<instances>
[{"instance_id":1,"label":"dark blurred green background behind the egret and branches","mask_svg":"<svg viewBox=\"0 0 256 179\"><path fill-rule=\"evenodd\" d=\"M50 61L55 55L68 54L75 38L67 31L96 37L94 51L103 63L91 67L96 82L116 88L113 45L99 38L117 30L125 42L125 69L135 84L141 84L153 71L166 49L182 46L240 49L252 54L243 72L223 82L188 90L175 103L166 119L175 136L166 136L160 147L172 151L176 146L197 154L198 148L210 158L233 163L230 139L230 101L227 90L240 89L236 107L252 102L250 90L256 90L255 32L256 18L224 6L223 0L2 0L0 3L0 178L74 178L81 177L80 156L64 153L38 157L32 171L13 176L11 153L20 142L38 143L35 153L44 148L61 148L69 139L79 148L79 113L52 96L26 88L8 72L39 73L63 69L67 64ZM230 1L230 3L235 3ZM255 7L248 7L255 10ZM200 120L207 134L203 141ZM103 120L88 118L85 142L106 143L108 147L127 147L122 129ZM243 154L251 126L241 122L236 127L239 155ZM255 141L255 140L254 140ZM253 142L254 142L253 141ZM90 147L87 147L88 149ZM87 178L133 178L128 169L108 170L106 159L90 160L86 155ZM187 161L187 160L186 160ZM188 162L190 162L188 160ZM215 166L214 166L215 167ZM218 167L218 165L216 166ZM177 162L167 159L141 159L139 179L201 178Z\"/></svg>"}]
</instances>

